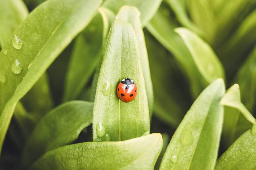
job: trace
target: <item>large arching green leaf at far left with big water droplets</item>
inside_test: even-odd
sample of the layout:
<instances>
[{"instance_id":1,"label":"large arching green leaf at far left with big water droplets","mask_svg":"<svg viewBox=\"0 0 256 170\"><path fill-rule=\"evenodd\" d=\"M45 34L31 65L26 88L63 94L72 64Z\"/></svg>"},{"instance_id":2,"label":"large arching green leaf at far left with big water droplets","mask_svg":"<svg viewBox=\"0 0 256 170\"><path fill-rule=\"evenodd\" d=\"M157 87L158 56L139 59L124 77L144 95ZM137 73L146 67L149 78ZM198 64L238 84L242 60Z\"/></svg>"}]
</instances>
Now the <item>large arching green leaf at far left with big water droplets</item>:
<instances>
[{"instance_id":1,"label":"large arching green leaf at far left with big water droplets","mask_svg":"<svg viewBox=\"0 0 256 170\"><path fill-rule=\"evenodd\" d=\"M100 0L49 0L31 12L14 31L3 49L8 54L0 53L0 146L13 105L90 22L100 3Z\"/></svg>"}]
</instances>

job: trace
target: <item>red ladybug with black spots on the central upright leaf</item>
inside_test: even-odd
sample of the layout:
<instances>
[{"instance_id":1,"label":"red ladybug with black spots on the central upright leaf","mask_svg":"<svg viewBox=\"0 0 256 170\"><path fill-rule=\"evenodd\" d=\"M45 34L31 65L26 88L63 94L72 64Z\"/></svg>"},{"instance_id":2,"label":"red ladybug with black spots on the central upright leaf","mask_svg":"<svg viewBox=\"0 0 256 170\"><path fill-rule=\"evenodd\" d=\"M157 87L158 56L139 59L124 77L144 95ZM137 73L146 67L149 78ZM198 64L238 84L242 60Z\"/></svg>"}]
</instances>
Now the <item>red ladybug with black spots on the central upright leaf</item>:
<instances>
[{"instance_id":1,"label":"red ladybug with black spots on the central upright leaf","mask_svg":"<svg viewBox=\"0 0 256 170\"><path fill-rule=\"evenodd\" d=\"M121 101L128 103L136 97L137 86L132 79L125 78L118 84L116 94Z\"/></svg>"}]
</instances>

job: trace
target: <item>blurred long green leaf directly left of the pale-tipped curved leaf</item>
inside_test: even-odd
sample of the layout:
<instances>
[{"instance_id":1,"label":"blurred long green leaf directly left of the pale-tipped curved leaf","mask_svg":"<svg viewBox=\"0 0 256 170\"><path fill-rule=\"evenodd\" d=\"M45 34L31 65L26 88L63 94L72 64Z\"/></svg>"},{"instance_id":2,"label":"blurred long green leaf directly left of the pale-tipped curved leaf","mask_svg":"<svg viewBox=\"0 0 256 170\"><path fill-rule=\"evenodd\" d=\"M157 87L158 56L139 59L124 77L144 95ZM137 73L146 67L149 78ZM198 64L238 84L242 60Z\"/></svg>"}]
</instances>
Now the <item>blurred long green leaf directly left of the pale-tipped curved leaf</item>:
<instances>
[{"instance_id":1,"label":"blurred long green leaf directly left of the pale-tipped curved leaf","mask_svg":"<svg viewBox=\"0 0 256 170\"><path fill-rule=\"evenodd\" d=\"M168 13L168 11L166 5L161 5L156 15L146 25L146 28L174 55L183 74L189 79L191 93L193 97L196 98L208 83L199 73L181 37L177 33L174 33L174 28L179 25L175 22L175 19L170 16L170 12ZM162 26L163 24L165 25L164 27Z\"/></svg>"}]
</instances>

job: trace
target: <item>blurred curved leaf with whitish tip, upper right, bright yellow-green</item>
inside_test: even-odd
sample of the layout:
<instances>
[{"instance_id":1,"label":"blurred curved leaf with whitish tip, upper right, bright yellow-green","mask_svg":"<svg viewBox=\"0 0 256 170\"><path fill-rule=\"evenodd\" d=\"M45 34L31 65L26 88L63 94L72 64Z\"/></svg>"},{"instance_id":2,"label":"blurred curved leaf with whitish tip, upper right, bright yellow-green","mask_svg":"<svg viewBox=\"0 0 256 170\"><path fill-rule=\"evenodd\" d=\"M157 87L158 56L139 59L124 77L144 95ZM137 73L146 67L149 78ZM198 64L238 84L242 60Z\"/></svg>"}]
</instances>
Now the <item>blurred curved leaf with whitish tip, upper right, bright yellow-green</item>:
<instances>
[{"instance_id":1,"label":"blurred curved leaf with whitish tip, upper right, bright yellow-green","mask_svg":"<svg viewBox=\"0 0 256 170\"><path fill-rule=\"evenodd\" d=\"M197 68L208 83L216 78L224 79L222 64L206 42L186 28L176 28L175 31L185 42Z\"/></svg>"}]
</instances>

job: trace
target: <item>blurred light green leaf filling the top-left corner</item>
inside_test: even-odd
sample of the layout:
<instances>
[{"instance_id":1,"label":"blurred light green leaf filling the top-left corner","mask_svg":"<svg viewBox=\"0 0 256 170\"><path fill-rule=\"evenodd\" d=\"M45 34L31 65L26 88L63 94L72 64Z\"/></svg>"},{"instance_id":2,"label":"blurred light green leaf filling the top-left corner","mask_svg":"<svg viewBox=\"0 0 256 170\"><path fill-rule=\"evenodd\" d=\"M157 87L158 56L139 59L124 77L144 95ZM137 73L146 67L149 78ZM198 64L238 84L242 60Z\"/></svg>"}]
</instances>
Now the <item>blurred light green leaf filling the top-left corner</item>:
<instances>
[{"instance_id":1,"label":"blurred light green leaf filling the top-left corner","mask_svg":"<svg viewBox=\"0 0 256 170\"><path fill-rule=\"evenodd\" d=\"M22 0L2 0L0 11L0 47L3 48L16 27L27 17L28 9Z\"/></svg>"}]
</instances>

